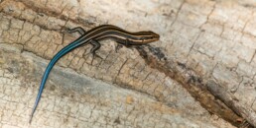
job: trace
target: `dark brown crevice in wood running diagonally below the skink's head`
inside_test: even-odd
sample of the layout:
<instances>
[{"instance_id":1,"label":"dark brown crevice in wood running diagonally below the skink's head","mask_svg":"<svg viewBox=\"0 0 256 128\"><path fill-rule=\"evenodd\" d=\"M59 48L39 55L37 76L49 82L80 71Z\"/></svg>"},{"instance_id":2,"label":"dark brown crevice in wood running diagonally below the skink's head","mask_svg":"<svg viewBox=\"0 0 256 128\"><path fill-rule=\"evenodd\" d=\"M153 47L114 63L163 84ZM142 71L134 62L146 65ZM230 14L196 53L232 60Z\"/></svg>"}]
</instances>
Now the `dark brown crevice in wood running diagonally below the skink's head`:
<instances>
[{"instance_id":1,"label":"dark brown crevice in wood running diagonally below the skink's head","mask_svg":"<svg viewBox=\"0 0 256 128\"><path fill-rule=\"evenodd\" d=\"M153 48L153 46L150 47ZM160 61L159 57L151 53L149 48L141 46L137 47L137 50L151 68L165 73L168 77L180 83L209 113L218 115L236 127L243 125L243 121L239 120L244 119L233 108L234 106L226 104L222 97L212 94L212 91L203 82L204 80L197 76L186 64L171 62L171 60Z\"/></svg>"}]
</instances>

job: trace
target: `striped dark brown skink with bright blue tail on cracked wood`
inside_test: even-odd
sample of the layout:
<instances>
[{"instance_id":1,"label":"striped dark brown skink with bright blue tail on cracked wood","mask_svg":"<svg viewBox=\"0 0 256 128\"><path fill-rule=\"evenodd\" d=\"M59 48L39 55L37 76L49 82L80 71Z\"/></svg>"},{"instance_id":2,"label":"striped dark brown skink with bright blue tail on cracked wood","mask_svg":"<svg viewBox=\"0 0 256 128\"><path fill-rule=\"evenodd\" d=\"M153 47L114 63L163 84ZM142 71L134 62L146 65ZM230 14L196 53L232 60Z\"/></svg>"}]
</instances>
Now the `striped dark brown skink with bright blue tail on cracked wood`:
<instances>
[{"instance_id":1,"label":"striped dark brown skink with bright blue tail on cracked wood","mask_svg":"<svg viewBox=\"0 0 256 128\"><path fill-rule=\"evenodd\" d=\"M146 43L150 43L153 41L159 40L160 36L159 34L155 32L127 32L124 31L118 27L111 26L111 25L102 25L99 27L96 27L88 32L85 32L82 28L74 28L69 30L68 32L79 32L80 36L69 43L68 45L64 46L62 50L60 50L54 58L50 61L48 64L48 67L45 71L45 74L42 78L42 82L40 85L39 93L36 98L33 110L31 112L30 116L30 123L32 121L33 115L36 111L36 108L39 104L40 98L42 96L45 84L47 82L48 76L56 64L56 62L64 56L67 52L75 49L76 47L90 43L93 47L91 48L90 52L95 55L95 51L100 48L100 43L98 41L106 38L111 38L115 40L116 42L129 46L129 45L143 45Z\"/></svg>"}]
</instances>

